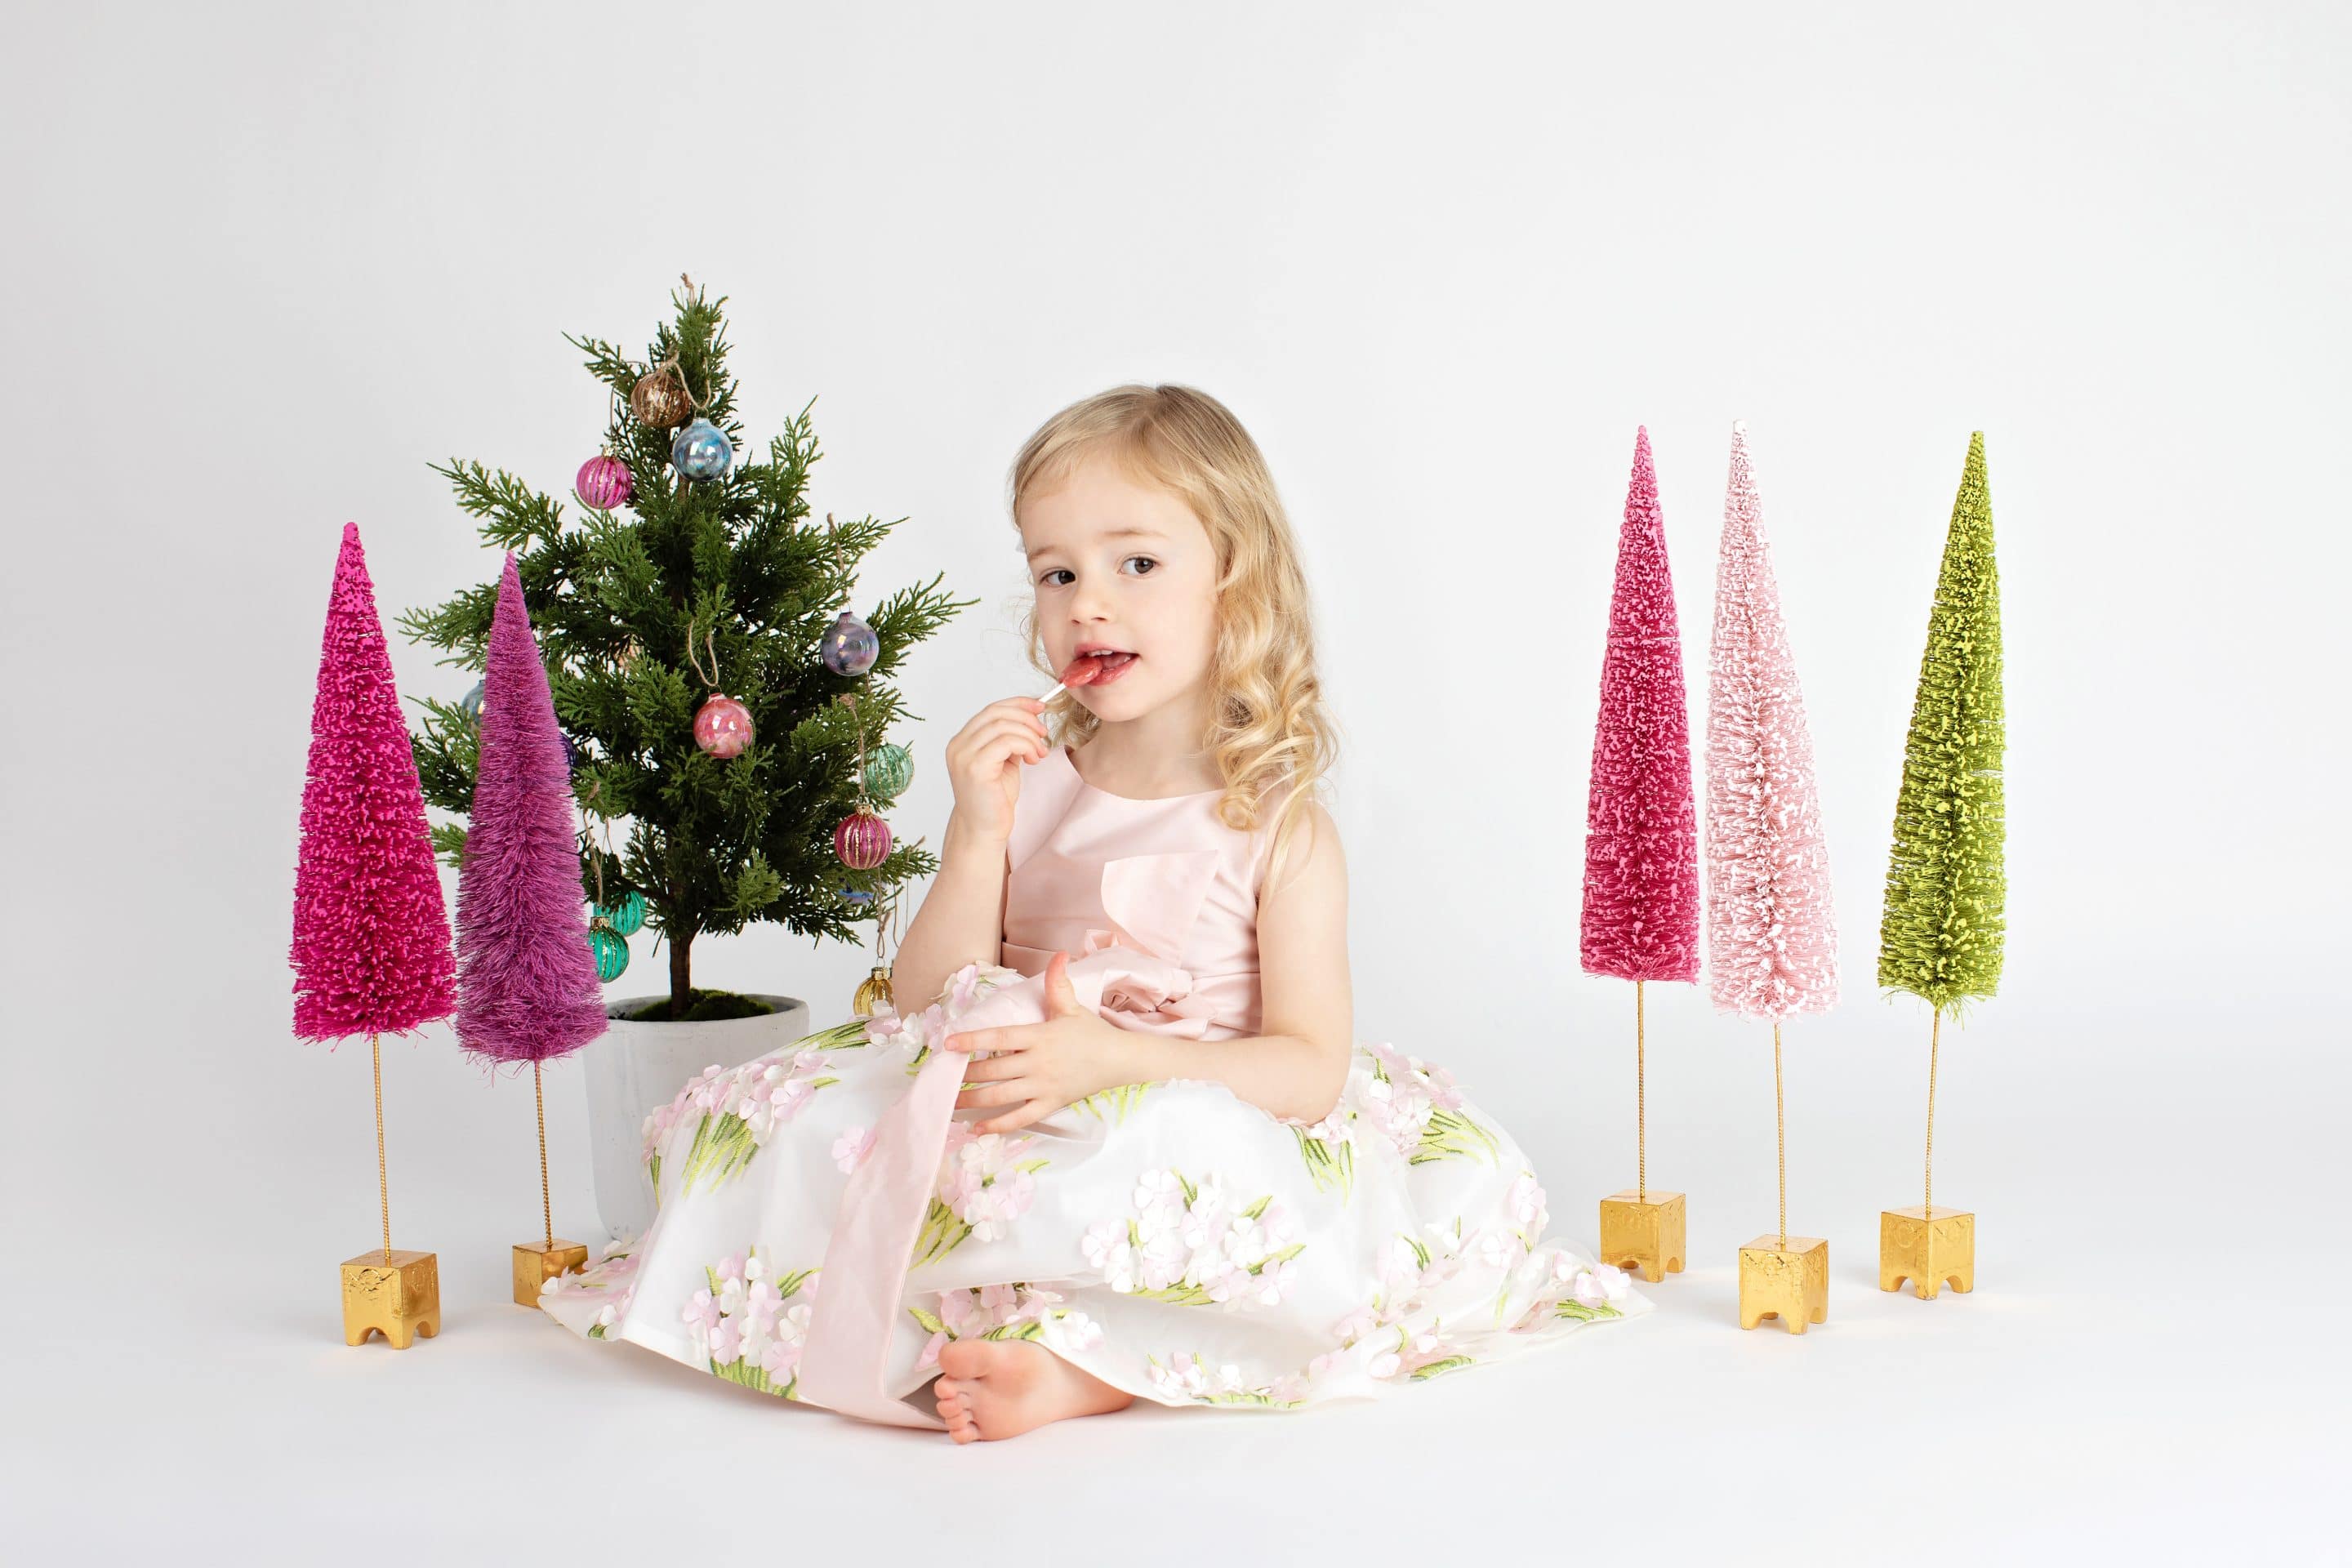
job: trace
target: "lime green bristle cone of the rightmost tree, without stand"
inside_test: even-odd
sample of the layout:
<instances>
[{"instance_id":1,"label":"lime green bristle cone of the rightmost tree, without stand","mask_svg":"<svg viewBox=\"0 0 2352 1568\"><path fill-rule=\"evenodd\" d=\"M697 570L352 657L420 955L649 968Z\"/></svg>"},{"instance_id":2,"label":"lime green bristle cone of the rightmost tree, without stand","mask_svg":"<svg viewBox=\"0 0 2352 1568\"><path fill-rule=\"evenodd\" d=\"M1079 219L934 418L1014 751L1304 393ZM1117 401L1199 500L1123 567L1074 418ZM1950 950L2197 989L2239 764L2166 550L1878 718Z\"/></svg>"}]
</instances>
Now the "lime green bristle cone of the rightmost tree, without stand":
<instances>
[{"instance_id":1,"label":"lime green bristle cone of the rightmost tree, without stand","mask_svg":"<svg viewBox=\"0 0 2352 1568\"><path fill-rule=\"evenodd\" d=\"M1879 922L1879 985L1938 1016L2002 980L2002 595L1978 430L1936 576Z\"/></svg>"}]
</instances>

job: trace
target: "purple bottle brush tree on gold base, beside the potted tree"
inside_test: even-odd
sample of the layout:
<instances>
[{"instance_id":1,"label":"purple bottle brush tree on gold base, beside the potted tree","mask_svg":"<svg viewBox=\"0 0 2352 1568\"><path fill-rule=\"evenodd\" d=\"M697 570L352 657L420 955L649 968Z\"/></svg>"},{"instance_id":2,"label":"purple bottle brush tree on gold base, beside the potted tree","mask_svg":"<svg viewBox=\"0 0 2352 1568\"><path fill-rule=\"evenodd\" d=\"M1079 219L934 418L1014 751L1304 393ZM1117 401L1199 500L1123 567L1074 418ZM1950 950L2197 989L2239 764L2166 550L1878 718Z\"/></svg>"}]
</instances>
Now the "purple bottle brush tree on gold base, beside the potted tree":
<instances>
[{"instance_id":1,"label":"purple bottle brush tree on gold base, beside the potted tree","mask_svg":"<svg viewBox=\"0 0 2352 1568\"><path fill-rule=\"evenodd\" d=\"M482 668L482 750L456 882L456 1037L492 1067L532 1065L543 1239L515 1246L515 1302L524 1307L539 1305L546 1279L588 1262L586 1246L555 1239L548 1185L546 1063L607 1027L576 835L555 698L508 555Z\"/></svg>"}]
</instances>

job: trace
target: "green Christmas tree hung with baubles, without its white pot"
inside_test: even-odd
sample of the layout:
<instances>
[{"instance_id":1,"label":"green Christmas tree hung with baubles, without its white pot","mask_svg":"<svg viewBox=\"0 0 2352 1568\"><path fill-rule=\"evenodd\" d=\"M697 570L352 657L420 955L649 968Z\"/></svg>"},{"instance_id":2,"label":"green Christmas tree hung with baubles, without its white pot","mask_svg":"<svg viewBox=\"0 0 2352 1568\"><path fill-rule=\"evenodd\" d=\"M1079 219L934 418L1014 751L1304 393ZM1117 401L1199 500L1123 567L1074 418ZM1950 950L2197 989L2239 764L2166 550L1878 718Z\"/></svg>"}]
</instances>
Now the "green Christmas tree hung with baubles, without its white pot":
<instances>
[{"instance_id":1,"label":"green Christmas tree hung with baubles, without its white pot","mask_svg":"<svg viewBox=\"0 0 2352 1568\"><path fill-rule=\"evenodd\" d=\"M858 940L851 924L873 919L880 898L844 891L877 893L936 870L936 856L920 844L894 846L873 870L849 870L835 856L833 830L861 799L858 726L870 750L908 717L887 677L913 644L978 602L943 595L946 574L906 588L863 614L882 644L873 668L826 668L818 644L849 604L856 564L896 524L811 522L814 400L769 442L767 461L736 461L708 480L673 468L668 425L680 421L659 397L630 402L640 381L673 367L668 376L682 383L691 416L743 454L724 303L703 301L687 282L647 364L567 334L614 395L607 456L626 463L628 482L602 470L597 498L612 510L583 503L574 520L508 473L470 461L435 465L459 505L482 520L482 541L515 552L555 712L579 748L572 790L583 813L581 889L604 905L644 896L647 924L670 945L670 1018L760 1011L739 997L696 994L696 938L776 922L816 940ZM649 423L637 409L668 423ZM619 491L626 498L614 498ZM482 583L400 625L414 642L445 649L442 663L480 670L496 599L496 583ZM750 710L755 738L741 755L722 759L694 741L694 715L713 689ZM423 795L463 816L473 804L477 719L461 703L421 708L414 748ZM623 820L626 846L600 856L593 839ZM452 863L463 856L463 825L445 823L433 837Z\"/></svg>"}]
</instances>

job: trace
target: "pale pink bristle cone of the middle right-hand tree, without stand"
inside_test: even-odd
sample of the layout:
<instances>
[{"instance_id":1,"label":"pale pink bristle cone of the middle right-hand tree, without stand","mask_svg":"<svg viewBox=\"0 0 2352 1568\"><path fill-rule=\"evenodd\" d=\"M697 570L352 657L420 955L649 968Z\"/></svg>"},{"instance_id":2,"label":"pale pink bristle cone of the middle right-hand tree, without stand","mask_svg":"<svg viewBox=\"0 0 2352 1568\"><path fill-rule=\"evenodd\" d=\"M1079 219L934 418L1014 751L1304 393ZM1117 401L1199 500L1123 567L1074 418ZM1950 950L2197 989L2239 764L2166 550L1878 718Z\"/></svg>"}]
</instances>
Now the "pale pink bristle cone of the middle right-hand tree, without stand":
<instances>
[{"instance_id":1,"label":"pale pink bristle cone of the middle right-hand tree, without stand","mask_svg":"<svg viewBox=\"0 0 2352 1568\"><path fill-rule=\"evenodd\" d=\"M1778 1020L1837 1004L1813 738L1745 423L1731 425L1708 658L1708 971L1715 1006L1729 1013Z\"/></svg>"}]
</instances>

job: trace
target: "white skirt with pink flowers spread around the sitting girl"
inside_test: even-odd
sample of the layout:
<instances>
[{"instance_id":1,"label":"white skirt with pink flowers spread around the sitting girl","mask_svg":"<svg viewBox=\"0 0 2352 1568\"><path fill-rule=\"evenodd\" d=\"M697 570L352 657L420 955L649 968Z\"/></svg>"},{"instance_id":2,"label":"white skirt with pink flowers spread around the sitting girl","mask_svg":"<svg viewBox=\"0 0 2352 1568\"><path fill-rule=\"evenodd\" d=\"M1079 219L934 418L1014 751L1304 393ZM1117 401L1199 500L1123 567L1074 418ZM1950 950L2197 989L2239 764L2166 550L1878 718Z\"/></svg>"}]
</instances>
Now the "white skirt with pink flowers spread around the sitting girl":
<instances>
[{"instance_id":1,"label":"white skirt with pink flowers spread around the sitting girl","mask_svg":"<svg viewBox=\"0 0 2352 1568\"><path fill-rule=\"evenodd\" d=\"M593 1340L903 1425L936 1425L896 1401L974 1335L1033 1340L1167 1406L1296 1410L1649 1312L1621 1269L1545 1237L1510 1133L1388 1046L1357 1046L1315 1124L1202 1079L1131 1084L1016 1133L974 1135L967 1117L990 1112L955 1112L936 1159L913 1152L906 1248L858 1208L854 1173L903 1128L927 1063L953 1095L962 1065L934 1046L1021 980L967 966L922 1013L689 1081L647 1119L652 1227L548 1281L541 1307ZM861 1258L875 1237L889 1267ZM826 1314L863 1321L828 1338ZM870 1349L830 1349L861 1335ZM889 1408L830 1399L842 1378L811 1375L830 1354L868 1356L858 1375Z\"/></svg>"}]
</instances>

